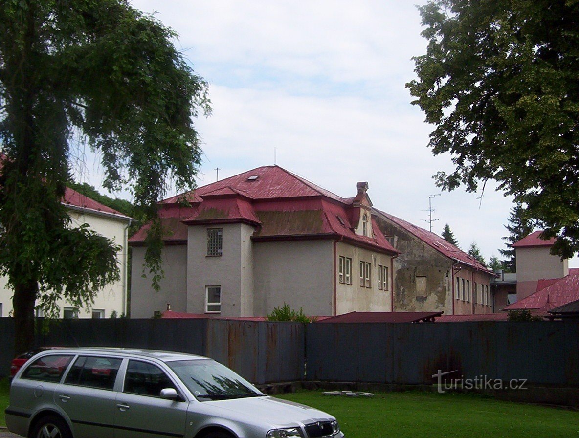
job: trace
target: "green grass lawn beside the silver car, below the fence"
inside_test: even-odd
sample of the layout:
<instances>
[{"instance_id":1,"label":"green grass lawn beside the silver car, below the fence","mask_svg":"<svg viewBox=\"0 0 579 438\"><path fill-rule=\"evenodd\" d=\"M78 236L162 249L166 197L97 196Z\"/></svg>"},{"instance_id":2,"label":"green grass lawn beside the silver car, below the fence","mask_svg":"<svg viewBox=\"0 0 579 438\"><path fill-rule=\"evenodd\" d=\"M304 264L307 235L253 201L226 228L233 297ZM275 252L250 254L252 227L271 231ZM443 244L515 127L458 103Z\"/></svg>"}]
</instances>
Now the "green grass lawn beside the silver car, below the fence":
<instances>
[{"instance_id":1,"label":"green grass lawn beside the silver car, below the fence","mask_svg":"<svg viewBox=\"0 0 579 438\"><path fill-rule=\"evenodd\" d=\"M304 391L279 395L338 418L346 438L571 437L579 412L458 393L389 392L373 398Z\"/></svg>"}]
</instances>

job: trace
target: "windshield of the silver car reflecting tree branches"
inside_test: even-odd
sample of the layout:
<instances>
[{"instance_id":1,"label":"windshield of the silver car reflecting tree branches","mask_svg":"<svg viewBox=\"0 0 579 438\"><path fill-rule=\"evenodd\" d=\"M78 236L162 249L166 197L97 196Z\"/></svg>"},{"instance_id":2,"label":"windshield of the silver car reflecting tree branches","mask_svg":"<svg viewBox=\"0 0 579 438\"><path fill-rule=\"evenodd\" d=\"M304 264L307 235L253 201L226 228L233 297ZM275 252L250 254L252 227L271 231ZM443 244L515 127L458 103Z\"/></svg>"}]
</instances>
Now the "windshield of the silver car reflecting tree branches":
<instances>
[{"instance_id":1,"label":"windshield of the silver car reflecting tree branches","mask_svg":"<svg viewBox=\"0 0 579 438\"><path fill-rule=\"evenodd\" d=\"M215 360L178 360L167 365L201 402L265 396L250 382Z\"/></svg>"}]
</instances>

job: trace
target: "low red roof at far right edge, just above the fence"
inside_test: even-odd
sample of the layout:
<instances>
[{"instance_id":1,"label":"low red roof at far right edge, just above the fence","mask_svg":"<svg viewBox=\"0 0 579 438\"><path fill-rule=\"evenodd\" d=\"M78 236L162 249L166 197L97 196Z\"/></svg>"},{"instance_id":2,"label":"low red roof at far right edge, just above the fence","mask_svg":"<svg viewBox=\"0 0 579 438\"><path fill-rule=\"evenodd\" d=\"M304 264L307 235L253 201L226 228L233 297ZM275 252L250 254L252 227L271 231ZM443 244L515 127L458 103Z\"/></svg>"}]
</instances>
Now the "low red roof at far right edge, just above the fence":
<instances>
[{"instance_id":1,"label":"low red roof at far right edge, just above the fence","mask_svg":"<svg viewBox=\"0 0 579 438\"><path fill-rule=\"evenodd\" d=\"M567 275L522 300L505 307L504 310L527 309L547 312L575 300L579 300L579 275Z\"/></svg>"}]
</instances>

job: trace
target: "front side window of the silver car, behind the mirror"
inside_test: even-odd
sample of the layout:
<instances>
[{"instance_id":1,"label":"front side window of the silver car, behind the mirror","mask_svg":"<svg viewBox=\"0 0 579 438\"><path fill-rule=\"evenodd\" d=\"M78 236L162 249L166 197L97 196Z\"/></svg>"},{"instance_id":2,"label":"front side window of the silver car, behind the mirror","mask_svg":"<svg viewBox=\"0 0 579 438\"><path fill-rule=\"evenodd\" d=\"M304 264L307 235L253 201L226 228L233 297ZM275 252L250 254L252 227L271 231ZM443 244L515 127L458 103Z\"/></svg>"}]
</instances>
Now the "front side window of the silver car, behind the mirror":
<instances>
[{"instance_id":1,"label":"front side window of the silver car, behind the mirror","mask_svg":"<svg viewBox=\"0 0 579 438\"><path fill-rule=\"evenodd\" d=\"M129 360L123 392L159 397L161 389L165 388L178 391L173 381L158 366L140 360Z\"/></svg>"}]
</instances>

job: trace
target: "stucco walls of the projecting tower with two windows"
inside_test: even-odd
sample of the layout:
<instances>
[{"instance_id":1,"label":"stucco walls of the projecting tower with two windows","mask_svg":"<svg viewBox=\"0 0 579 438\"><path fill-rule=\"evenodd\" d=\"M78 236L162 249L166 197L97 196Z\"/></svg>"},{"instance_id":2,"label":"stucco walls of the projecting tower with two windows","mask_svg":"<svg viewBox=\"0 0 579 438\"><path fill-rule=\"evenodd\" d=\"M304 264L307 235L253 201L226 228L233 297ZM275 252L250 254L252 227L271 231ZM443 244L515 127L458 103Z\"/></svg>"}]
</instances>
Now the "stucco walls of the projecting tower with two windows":
<instances>
[{"instance_id":1,"label":"stucco walls of the projecting tower with two windows","mask_svg":"<svg viewBox=\"0 0 579 438\"><path fill-rule=\"evenodd\" d=\"M221 256L207 256L207 229L223 230ZM189 226L187 312L206 312L206 286L221 286L221 316L252 316L251 240L243 223Z\"/></svg>"}]
</instances>

